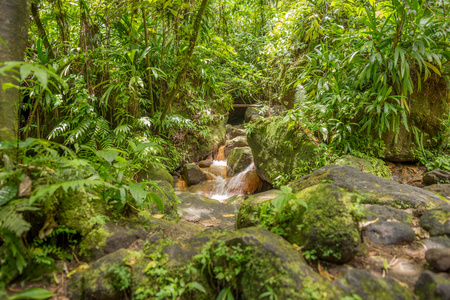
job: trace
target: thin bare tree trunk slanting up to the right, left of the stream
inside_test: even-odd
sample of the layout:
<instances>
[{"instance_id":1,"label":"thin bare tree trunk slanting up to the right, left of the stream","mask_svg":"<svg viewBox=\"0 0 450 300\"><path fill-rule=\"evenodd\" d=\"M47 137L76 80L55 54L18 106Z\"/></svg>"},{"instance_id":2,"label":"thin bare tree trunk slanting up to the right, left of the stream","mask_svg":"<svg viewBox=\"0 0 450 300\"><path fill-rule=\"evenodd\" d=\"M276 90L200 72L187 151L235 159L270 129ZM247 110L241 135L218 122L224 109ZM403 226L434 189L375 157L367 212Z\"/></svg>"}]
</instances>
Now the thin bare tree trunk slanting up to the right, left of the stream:
<instances>
[{"instance_id":1,"label":"thin bare tree trunk slanting up to the right, left of the stream","mask_svg":"<svg viewBox=\"0 0 450 300\"><path fill-rule=\"evenodd\" d=\"M191 61L192 53L194 53L195 43L197 42L198 32L200 31L200 23L202 21L203 13L205 12L207 3L208 3L208 0L202 0L200 8L197 12L197 16L196 16L195 22L194 22L194 30L192 32L191 38L189 39L189 49L186 53L186 57L184 59L183 66L178 71L177 78L175 79L175 84L169 94L169 97L167 98L166 106L164 107L164 110L161 114L161 119L160 119L160 123L159 123L160 129L161 129L162 122L163 122L164 118L166 117L167 111L169 110L169 107L172 105L172 102L175 99L175 95L177 94L178 89L180 88L181 79L184 77L184 74L186 74L187 67L189 65L189 62Z\"/></svg>"}]
</instances>

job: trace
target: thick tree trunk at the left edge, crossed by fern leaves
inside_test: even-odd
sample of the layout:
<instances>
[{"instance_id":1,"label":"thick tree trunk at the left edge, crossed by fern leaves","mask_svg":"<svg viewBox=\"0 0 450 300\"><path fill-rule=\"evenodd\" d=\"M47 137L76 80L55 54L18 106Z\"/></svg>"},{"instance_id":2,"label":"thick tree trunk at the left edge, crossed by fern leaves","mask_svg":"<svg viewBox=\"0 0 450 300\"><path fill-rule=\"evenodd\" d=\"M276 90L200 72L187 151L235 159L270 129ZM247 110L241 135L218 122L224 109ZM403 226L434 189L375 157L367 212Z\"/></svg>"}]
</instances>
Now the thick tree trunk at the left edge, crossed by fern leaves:
<instances>
[{"instance_id":1,"label":"thick tree trunk at the left edge, crossed by fern leaves","mask_svg":"<svg viewBox=\"0 0 450 300\"><path fill-rule=\"evenodd\" d=\"M22 61L28 41L30 6L27 0L0 0L0 62ZM19 90L3 90L5 83L18 84L9 76L0 75L0 140L14 140L18 133L17 108Z\"/></svg>"}]
</instances>

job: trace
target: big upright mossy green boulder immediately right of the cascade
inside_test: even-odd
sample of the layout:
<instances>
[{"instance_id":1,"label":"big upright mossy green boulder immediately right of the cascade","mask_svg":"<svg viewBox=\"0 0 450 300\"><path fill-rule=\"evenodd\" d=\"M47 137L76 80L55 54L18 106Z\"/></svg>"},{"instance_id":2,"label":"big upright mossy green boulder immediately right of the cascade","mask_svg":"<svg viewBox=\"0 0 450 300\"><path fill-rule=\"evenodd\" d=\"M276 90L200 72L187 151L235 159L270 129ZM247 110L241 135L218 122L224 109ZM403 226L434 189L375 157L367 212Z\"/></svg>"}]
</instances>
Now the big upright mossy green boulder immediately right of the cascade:
<instances>
[{"instance_id":1,"label":"big upright mossy green boulder immediately right of the cascade","mask_svg":"<svg viewBox=\"0 0 450 300\"><path fill-rule=\"evenodd\" d=\"M297 173L314 169L318 147L308 136L290 127L288 117L260 119L252 125L247 141L252 149L258 175L269 183L279 176L287 181Z\"/></svg>"}]
</instances>

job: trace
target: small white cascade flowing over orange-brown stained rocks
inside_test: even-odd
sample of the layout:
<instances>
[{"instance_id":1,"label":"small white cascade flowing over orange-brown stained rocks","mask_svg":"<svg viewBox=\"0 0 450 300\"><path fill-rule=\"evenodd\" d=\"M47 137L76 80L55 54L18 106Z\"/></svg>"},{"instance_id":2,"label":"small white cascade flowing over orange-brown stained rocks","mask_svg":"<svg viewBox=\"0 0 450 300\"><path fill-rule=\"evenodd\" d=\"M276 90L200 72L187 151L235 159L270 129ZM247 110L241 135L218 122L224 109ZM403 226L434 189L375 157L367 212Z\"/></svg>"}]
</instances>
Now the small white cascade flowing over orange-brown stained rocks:
<instances>
[{"instance_id":1,"label":"small white cascade flowing over orange-brown stained rocks","mask_svg":"<svg viewBox=\"0 0 450 300\"><path fill-rule=\"evenodd\" d=\"M224 202L235 196L253 194L262 188L263 181L256 173L253 162L241 173L233 177L227 177L227 162L225 160L224 147L220 147L211 166L202 169L207 174L207 181L187 187L186 183L180 179L177 182L176 189L178 191L200 194Z\"/></svg>"}]
</instances>

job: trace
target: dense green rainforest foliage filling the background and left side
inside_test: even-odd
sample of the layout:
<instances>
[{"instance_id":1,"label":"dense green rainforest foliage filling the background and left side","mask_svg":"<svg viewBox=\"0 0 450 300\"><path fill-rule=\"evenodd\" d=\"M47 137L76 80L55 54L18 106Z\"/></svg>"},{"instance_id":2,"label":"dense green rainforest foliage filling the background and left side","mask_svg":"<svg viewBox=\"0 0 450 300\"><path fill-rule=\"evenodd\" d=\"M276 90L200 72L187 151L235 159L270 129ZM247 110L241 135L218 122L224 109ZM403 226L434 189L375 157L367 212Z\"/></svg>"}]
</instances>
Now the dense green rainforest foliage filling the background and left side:
<instances>
[{"instance_id":1,"label":"dense green rainforest foliage filling the background and left side","mask_svg":"<svg viewBox=\"0 0 450 300\"><path fill-rule=\"evenodd\" d=\"M162 210L136 174L173 172L186 137L207 140L236 102L285 105L290 128L324 152L380 156L382 135L400 126L420 145L411 103L448 82L449 10L448 0L31 0L24 59L0 62L13 78L2 89L21 95L18 139L1 144L0 260L14 260L0 281L71 257L50 240L76 234L46 231L70 193L116 214ZM450 168L448 134L418 157ZM38 210L45 226L31 233Z\"/></svg>"}]
</instances>

